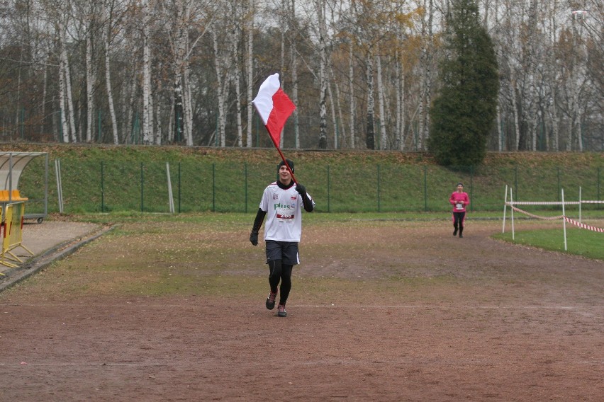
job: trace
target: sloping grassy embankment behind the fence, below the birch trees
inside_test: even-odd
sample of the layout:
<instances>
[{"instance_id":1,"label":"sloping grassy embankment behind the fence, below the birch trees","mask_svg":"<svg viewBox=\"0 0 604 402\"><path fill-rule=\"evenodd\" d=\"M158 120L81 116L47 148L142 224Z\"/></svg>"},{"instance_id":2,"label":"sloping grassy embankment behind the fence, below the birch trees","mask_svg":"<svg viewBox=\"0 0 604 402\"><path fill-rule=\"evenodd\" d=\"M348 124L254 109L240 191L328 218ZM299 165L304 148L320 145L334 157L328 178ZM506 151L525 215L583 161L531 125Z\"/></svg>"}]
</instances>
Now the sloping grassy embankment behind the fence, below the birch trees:
<instances>
[{"instance_id":1,"label":"sloping grassy embankment behind the fence, below the birch trees","mask_svg":"<svg viewBox=\"0 0 604 402\"><path fill-rule=\"evenodd\" d=\"M109 147L6 144L6 151L49 153L48 210L58 211L55 160L61 162L67 214L169 212L167 168L177 212L255 213L262 191L276 178L275 149ZM385 214L448 212L458 181L471 197L471 212L503 209L505 185L514 199L598 200L604 196L603 153L488 154L477 167L437 166L428 154L396 151L292 151L296 178L313 195L317 212ZM23 171L19 190L26 213L42 212L43 158ZM38 201L36 201L38 200ZM555 208L549 208L555 210ZM584 211L602 212L604 205Z\"/></svg>"}]
</instances>

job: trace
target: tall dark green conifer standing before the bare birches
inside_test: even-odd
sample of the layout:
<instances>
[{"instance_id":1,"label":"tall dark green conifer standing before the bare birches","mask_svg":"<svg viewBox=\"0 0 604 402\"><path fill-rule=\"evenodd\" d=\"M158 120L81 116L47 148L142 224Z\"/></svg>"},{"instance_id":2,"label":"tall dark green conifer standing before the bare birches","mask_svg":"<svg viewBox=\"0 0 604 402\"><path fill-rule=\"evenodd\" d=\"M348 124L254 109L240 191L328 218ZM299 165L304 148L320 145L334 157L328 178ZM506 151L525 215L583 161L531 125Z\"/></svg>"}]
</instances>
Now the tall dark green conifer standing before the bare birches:
<instances>
[{"instance_id":1,"label":"tall dark green conifer standing before the bare birches","mask_svg":"<svg viewBox=\"0 0 604 402\"><path fill-rule=\"evenodd\" d=\"M452 1L444 47L428 147L443 166L478 165L496 121L499 81L493 42L475 0Z\"/></svg>"}]
</instances>

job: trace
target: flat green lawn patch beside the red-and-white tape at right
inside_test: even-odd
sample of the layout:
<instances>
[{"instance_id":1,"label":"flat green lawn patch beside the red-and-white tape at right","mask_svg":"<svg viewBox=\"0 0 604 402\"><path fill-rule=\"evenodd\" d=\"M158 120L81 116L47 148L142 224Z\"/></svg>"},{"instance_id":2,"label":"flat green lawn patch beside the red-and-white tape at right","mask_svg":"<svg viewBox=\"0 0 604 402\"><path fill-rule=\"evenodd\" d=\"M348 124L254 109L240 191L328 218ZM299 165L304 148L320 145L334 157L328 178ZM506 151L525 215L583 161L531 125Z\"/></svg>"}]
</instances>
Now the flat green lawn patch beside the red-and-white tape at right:
<instances>
[{"instance_id":1,"label":"flat green lawn patch beside the red-and-white tape at right","mask_svg":"<svg viewBox=\"0 0 604 402\"><path fill-rule=\"evenodd\" d=\"M514 240L511 231L505 234L496 234L493 237L510 243L604 260L604 234L574 226L569 227L568 224L566 225L566 251L564 251L564 231L561 224L558 229L515 231Z\"/></svg>"}]
</instances>

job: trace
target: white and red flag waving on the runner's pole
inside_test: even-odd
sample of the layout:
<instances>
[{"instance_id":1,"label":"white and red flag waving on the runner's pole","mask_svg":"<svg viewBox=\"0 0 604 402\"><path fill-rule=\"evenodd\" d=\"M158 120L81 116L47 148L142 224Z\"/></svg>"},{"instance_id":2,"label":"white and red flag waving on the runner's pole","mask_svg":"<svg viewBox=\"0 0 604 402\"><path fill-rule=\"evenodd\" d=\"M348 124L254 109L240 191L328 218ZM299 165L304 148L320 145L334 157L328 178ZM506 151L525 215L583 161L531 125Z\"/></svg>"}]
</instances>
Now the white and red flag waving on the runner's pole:
<instances>
[{"instance_id":1,"label":"white and red flag waving on the runner's pole","mask_svg":"<svg viewBox=\"0 0 604 402\"><path fill-rule=\"evenodd\" d=\"M281 142L281 130L285 122L296 109L296 105L281 89L279 84L279 73L269 76L258 90L258 95L252 101L264 126L271 136L275 147L279 149Z\"/></svg>"}]
</instances>

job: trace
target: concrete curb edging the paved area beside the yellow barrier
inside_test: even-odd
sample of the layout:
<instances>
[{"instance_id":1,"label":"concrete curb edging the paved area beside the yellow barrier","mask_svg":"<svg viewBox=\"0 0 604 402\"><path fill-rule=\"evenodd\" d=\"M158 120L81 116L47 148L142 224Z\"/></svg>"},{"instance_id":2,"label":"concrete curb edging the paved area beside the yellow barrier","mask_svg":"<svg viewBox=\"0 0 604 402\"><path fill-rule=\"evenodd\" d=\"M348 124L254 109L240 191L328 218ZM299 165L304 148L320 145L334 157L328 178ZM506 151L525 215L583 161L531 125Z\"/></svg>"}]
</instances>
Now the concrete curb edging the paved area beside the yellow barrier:
<instances>
[{"instance_id":1,"label":"concrete curb edging the paved area beside the yellow barrier","mask_svg":"<svg viewBox=\"0 0 604 402\"><path fill-rule=\"evenodd\" d=\"M34 256L31 260L27 260L26 263L23 263L18 268L12 268L11 270L6 271L8 273L5 272L6 280L0 283L0 292L9 289L9 287L34 275L36 272L43 270L51 263L73 254L80 247L99 239L99 237L112 229L113 226L104 226L101 229L92 231L77 239L64 241L63 243L59 243L57 246L48 249L44 253Z\"/></svg>"}]
</instances>

